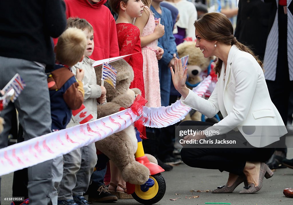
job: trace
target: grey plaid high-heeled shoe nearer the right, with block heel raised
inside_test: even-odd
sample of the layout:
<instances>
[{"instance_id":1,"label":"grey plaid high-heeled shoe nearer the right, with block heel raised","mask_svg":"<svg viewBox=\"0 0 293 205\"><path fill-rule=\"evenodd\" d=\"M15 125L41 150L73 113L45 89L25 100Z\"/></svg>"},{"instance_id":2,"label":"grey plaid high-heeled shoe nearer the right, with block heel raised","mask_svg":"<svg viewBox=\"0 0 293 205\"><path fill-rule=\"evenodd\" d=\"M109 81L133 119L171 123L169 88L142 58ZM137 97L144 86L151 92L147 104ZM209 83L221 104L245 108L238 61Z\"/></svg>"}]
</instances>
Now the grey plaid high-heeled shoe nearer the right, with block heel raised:
<instances>
[{"instance_id":1,"label":"grey plaid high-heeled shoe nearer the right, with block heel raised","mask_svg":"<svg viewBox=\"0 0 293 205\"><path fill-rule=\"evenodd\" d=\"M255 186L255 184L253 183L249 183L248 186L243 187L244 190L239 192L239 194L254 194L255 192L258 192L261 187L263 187L263 178L265 177L266 179L268 179L271 178L273 175L274 173L265 163L260 163L258 186Z\"/></svg>"}]
</instances>

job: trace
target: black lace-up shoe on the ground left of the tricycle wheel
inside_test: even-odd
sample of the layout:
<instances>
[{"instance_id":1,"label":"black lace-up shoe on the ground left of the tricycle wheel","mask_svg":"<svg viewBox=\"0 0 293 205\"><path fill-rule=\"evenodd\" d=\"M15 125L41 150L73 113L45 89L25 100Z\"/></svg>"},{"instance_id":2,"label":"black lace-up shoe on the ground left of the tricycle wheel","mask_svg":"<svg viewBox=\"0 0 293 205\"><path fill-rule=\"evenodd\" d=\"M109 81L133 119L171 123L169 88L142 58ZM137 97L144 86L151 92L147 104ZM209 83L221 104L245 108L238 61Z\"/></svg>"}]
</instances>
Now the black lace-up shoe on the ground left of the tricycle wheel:
<instances>
[{"instance_id":1,"label":"black lace-up shoe on the ground left of the tricycle wheel","mask_svg":"<svg viewBox=\"0 0 293 205\"><path fill-rule=\"evenodd\" d=\"M117 201L118 198L108 192L105 185L101 185L98 189L89 192L88 194L88 201L89 202L102 202L102 203L108 203L108 202L114 202Z\"/></svg>"}]
</instances>

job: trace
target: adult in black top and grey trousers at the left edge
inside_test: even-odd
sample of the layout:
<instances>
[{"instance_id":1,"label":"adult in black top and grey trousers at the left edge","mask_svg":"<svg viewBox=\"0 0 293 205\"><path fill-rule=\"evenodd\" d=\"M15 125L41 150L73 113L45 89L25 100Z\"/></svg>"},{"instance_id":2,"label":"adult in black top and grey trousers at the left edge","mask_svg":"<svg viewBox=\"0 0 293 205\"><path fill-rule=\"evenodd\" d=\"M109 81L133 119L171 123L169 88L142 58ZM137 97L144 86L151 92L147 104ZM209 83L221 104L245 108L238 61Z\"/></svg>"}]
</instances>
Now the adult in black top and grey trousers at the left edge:
<instances>
[{"instance_id":1,"label":"adult in black top and grey trousers at the left edge","mask_svg":"<svg viewBox=\"0 0 293 205\"><path fill-rule=\"evenodd\" d=\"M8 144L15 108L25 141L51 132L45 66L55 62L51 37L59 37L66 27L65 4L62 0L0 1L0 19L0 89L16 73L26 84L14 104L9 103L0 113L5 120L0 134L1 149ZM57 204L54 170L53 160L28 167L28 194L25 195L29 197L29 204Z\"/></svg>"}]
</instances>

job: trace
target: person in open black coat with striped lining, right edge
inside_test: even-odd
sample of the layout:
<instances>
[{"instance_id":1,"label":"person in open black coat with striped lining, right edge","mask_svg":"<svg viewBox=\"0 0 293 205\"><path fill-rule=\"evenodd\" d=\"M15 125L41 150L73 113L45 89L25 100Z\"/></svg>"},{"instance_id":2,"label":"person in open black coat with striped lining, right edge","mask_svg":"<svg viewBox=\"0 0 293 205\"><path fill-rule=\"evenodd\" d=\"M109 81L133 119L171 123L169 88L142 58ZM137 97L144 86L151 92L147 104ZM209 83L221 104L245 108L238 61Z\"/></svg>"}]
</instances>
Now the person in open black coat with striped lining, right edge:
<instances>
[{"instance_id":1,"label":"person in open black coat with striped lining, right edge","mask_svg":"<svg viewBox=\"0 0 293 205\"><path fill-rule=\"evenodd\" d=\"M289 96L293 87L293 4L292 0L264 0L270 4L270 33L264 56L265 79L270 97L287 124ZM288 92L289 89L289 92ZM270 168L282 167L287 148L281 137L275 154L268 161Z\"/></svg>"}]
</instances>

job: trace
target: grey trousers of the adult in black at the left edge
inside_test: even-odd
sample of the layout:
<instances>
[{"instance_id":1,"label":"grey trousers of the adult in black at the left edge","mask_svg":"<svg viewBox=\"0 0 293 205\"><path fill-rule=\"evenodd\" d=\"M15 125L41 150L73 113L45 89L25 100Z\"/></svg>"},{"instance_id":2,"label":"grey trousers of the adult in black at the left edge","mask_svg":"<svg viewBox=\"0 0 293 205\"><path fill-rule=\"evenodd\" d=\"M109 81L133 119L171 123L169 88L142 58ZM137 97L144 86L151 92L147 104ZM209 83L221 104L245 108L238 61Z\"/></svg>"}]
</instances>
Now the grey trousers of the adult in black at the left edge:
<instances>
[{"instance_id":1,"label":"grey trousers of the adult in black at the left edge","mask_svg":"<svg viewBox=\"0 0 293 205\"><path fill-rule=\"evenodd\" d=\"M16 74L22 77L26 87L0 116L4 118L4 130L0 134L0 148L8 143L13 109L17 109L19 122L23 126L25 140L51 132L50 96L45 69L33 61L0 56L0 89ZM30 205L57 204L57 192L53 191L53 160L28 168L28 196ZM54 199L54 200L52 200Z\"/></svg>"}]
</instances>

